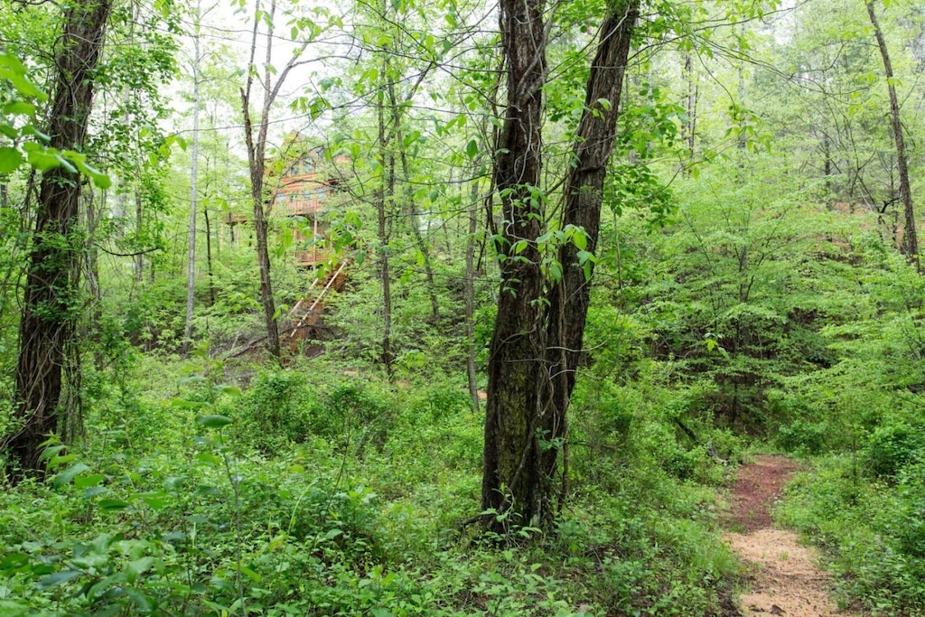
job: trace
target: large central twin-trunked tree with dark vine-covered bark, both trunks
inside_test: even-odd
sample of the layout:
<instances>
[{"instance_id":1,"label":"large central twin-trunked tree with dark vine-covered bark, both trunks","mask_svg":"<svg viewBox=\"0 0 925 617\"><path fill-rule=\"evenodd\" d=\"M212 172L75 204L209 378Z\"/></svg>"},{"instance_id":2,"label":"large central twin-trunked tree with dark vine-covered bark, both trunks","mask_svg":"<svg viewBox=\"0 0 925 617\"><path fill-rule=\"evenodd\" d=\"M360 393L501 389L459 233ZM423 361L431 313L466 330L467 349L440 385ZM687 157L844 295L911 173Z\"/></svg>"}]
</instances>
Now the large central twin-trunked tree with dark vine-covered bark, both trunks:
<instances>
[{"instance_id":1,"label":"large central twin-trunked tree with dark vine-covered bark, both trunks","mask_svg":"<svg viewBox=\"0 0 925 617\"><path fill-rule=\"evenodd\" d=\"M516 514L520 524L548 524L551 518L584 338L603 183L638 9L636 0L616 3L600 28L566 181L561 247L558 261L549 265L553 282L547 288L539 251L547 199L539 189L545 8L538 0L501 2L508 106L495 148L494 179L504 227L498 240L501 285L489 348L482 480L482 505L498 514L496 528L506 526L505 514Z\"/></svg>"}]
</instances>

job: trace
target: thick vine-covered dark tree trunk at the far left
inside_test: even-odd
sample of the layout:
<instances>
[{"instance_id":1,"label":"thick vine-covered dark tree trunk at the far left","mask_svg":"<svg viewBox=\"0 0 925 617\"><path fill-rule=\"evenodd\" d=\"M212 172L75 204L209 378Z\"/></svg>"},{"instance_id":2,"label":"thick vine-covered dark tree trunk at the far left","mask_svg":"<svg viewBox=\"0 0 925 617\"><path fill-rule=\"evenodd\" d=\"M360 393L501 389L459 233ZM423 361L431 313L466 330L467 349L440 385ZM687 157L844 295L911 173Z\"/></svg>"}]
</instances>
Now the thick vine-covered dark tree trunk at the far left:
<instances>
[{"instance_id":1,"label":"thick vine-covered dark tree trunk at the far left","mask_svg":"<svg viewBox=\"0 0 925 617\"><path fill-rule=\"evenodd\" d=\"M55 99L49 116L50 146L80 150L93 105L110 0L68 5L56 54ZM19 324L17 400L19 426L4 446L22 470L41 470L40 444L61 420L62 371L80 311L77 298L80 177L58 167L43 174Z\"/></svg>"}]
</instances>

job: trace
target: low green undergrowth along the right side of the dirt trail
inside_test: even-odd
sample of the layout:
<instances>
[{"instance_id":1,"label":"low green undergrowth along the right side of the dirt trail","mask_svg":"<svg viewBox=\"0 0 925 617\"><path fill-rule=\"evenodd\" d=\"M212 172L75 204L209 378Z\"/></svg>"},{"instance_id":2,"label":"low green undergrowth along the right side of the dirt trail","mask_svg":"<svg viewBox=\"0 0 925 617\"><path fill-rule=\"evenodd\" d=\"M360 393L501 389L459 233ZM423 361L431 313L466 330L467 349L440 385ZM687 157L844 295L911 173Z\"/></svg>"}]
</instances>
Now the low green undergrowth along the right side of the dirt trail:
<instances>
[{"instance_id":1,"label":"low green undergrowth along the right side of the dirt trail","mask_svg":"<svg viewBox=\"0 0 925 617\"><path fill-rule=\"evenodd\" d=\"M777 515L824 549L843 603L873 615L925 615L923 450L882 475L881 446L871 438L854 454L815 459Z\"/></svg>"}]
</instances>

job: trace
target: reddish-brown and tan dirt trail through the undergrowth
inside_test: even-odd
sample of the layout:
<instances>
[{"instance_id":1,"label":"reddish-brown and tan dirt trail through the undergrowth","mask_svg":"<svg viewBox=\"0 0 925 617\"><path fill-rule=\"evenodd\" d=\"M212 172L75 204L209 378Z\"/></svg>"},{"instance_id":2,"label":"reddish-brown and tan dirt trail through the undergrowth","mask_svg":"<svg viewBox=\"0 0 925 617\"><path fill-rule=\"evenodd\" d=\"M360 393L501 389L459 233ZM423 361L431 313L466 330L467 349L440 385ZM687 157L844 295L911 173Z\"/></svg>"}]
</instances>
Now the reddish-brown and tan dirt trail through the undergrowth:
<instances>
[{"instance_id":1,"label":"reddish-brown and tan dirt trail through the undergrowth","mask_svg":"<svg viewBox=\"0 0 925 617\"><path fill-rule=\"evenodd\" d=\"M739 598L739 608L745 617L857 617L838 610L827 591L831 577L817 566L818 553L795 533L773 527L771 507L797 469L786 457L759 455L739 470L729 526L743 531L723 536L748 566L751 592Z\"/></svg>"}]
</instances>

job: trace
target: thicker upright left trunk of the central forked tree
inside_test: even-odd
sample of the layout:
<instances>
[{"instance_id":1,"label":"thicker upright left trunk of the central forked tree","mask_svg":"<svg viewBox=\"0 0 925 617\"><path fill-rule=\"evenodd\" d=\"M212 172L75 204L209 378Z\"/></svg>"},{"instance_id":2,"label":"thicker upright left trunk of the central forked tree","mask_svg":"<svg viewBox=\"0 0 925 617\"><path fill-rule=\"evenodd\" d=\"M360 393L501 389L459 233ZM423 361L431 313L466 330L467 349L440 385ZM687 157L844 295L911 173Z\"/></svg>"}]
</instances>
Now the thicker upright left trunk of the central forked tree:
<instances>
[{"instance_id":1,"label":"thicker upright left trunk of the central forked tree","mask_svg":"<svg viewBox=\"0 0 925 617\"><path fill-rule=\"evenodd\" d=\"M494 180L503 216L498 250L498 316L489 346L482 507L491 526L539 524L551 487L543 474L540 429L547 387L540 303L543 275L536 238L543 220L539 190L542 88L546 82L544 0L500 0L507 108L494 148ZM508 516L502 516L508 514ZM513 514L514 516L511 516Z\"/></svg>"}]
</instances>

